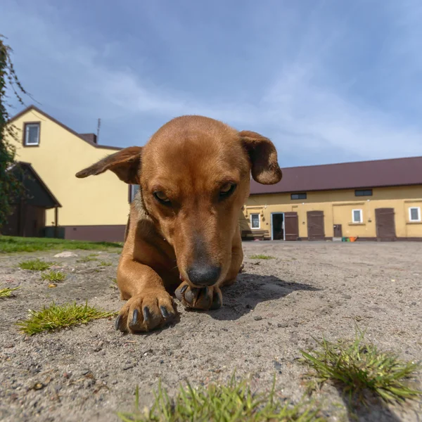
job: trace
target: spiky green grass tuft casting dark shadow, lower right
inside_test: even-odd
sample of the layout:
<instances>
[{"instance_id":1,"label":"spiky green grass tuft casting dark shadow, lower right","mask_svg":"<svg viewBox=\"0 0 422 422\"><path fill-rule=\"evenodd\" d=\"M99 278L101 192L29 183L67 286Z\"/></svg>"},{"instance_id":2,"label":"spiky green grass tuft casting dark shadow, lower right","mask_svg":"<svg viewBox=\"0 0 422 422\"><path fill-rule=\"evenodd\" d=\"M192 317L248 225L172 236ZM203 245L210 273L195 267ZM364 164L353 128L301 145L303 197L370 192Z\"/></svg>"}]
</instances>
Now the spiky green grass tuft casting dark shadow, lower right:
<instances>
[{"instance_id":1,"label":"spiky green grass tuft casting dark shadow, lower right","mask_svg":"<svg viewBox=\"0 0 422 422\"><path fill-rule=\"evenodd\" d=\"M302 362L311 369L307 373L308 391L332 381L343 388L350 403L364 404L368 393L386 403L400 403L422 395L422 391L408 385L421 368L420 364L402 362L395 354L379 352L375 345L364 344L364 334L357 328L354 341L331 343L324 338L316 340L321 350L309 353L300 350L304 357Z\"/></svg>"}]
</instances>

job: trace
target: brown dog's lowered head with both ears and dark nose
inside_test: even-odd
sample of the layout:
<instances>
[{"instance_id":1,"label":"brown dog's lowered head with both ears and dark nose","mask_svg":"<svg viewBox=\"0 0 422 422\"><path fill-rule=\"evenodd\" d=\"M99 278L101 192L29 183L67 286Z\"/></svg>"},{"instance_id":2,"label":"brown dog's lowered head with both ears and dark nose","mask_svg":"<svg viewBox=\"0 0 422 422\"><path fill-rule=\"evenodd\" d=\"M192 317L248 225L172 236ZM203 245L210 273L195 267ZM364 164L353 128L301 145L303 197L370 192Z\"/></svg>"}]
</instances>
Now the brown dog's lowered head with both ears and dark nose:
<instances>
[{"instance_id":1,"label":"brown dog's lowered head with both ears and dark nose","mask_svg":"<svg viewBox=\"0 0 422 422\"><path fill-rule=\"evenodd\" d=\"M250 174L261 184L281 180L269 139L200 116L177 117L143 148L124 148L77 177L106 170L141 186L146 211L173 246L181 277L194 286L218 284L229 271Z\"/></svg>"}]
</instances>

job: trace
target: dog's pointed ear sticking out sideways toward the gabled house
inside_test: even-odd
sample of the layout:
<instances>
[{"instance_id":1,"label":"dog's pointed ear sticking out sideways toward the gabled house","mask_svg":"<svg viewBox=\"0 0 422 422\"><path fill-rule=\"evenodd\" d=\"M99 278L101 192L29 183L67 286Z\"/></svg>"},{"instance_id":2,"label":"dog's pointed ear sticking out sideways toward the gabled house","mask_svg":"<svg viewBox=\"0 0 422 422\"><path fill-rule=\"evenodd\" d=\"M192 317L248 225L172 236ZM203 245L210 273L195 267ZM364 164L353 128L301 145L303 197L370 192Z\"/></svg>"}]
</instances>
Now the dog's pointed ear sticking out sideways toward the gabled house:
<instances>
[{"instance_id":1,"label":"dog's pointed ear sticking out sideways toward the gabled house","mask_svg":"<svg viewBox=\"0 0 422 422\"><path fill-rule=\"evenodd\" d=\"M90 165L84 170L77 172L76 177L96 176L111 170L117 177L127 184L139 184L139 171L141 170L141 146L129 146L122 151L108 155L103 160Z\"/></svg>"}]
</instances>

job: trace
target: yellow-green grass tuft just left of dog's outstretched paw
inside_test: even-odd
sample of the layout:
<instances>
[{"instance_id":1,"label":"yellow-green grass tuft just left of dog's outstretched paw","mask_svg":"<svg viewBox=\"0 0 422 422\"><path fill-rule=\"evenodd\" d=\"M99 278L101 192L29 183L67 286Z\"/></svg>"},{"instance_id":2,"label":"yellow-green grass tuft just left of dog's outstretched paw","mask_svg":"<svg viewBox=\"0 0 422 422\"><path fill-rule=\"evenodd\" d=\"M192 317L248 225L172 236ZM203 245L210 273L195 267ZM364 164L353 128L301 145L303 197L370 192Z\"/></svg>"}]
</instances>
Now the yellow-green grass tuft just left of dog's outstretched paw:
<instances>
[{"instance_id":1,"label":"yellow-green grass tuft just left of dog's outstretched paw","mask_svg":"<svg viewBox=\"0 0 422 422\"><path fill-rule=\"evenodd\" d=\"M20 331L25 334L33 335L42 331L55 331L61 328L75 326L77 324L88 324L89 321L99 318L108 318L117 312L104 312L95 307L67 303L65 305L56 305L54 302L49 307L43 307L41 311L33 311L27 319L16 323Z\"/></svg>"}]
</instances>

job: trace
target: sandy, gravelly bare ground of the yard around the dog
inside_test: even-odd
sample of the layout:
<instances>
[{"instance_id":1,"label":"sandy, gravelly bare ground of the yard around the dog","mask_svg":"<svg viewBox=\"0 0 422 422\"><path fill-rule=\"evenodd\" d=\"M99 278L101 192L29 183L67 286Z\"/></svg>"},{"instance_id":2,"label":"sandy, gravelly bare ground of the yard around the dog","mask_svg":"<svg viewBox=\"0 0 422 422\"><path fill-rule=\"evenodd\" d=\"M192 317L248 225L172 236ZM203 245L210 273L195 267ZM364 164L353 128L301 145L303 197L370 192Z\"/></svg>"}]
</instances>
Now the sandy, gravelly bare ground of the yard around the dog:
<instances>
[{"instance_id":1,"label":"sandy, gravelly bare ground of the yard around the dog","mask_svg":"<svg viewBox=\"0 0 422 422\"><path fill-rule=\"evenodd\" d=\"M32 337L15 322L52 300L120 309L112 281L119 255L100 252L99 260L113 262L100 267L77 262L87 251L60 259L56 252L0 254L0 286L20 286L0 300L0 420L117 421L116 411L133 408L136 385L144 405L159 378L172 392L185 378L225 381L235 369L262 390L276 373L278 395L298 400L299 349L313 344L312 335L352 338L356 319L381 349L422 359L422 243L248 242L244 250L245 272L224 290L222 309L186 312L177 302L179 321L148 335L124 335L114 319L101 319ZM276 259L251 260L256 253ZM49 288L39 272L17 268L33 257L57 262L67 279ZM328 386L316 398L328 420L352 420L340 391ZM374 404L360 409L359 420L419 421L421 414L421 403Z\"/></svg>"}]
</instances>

